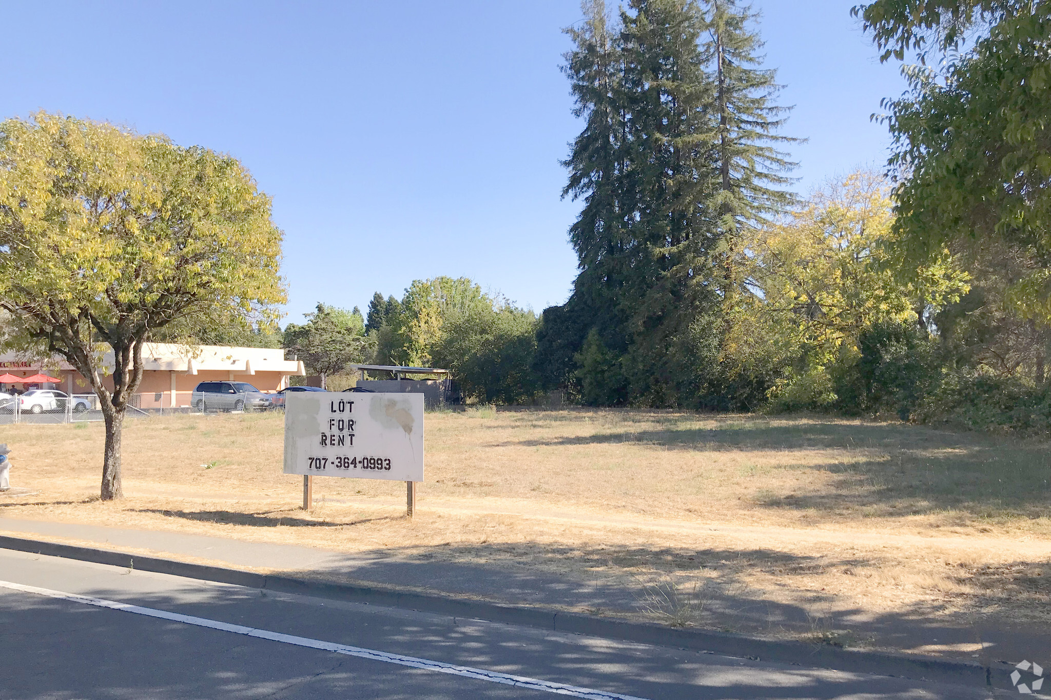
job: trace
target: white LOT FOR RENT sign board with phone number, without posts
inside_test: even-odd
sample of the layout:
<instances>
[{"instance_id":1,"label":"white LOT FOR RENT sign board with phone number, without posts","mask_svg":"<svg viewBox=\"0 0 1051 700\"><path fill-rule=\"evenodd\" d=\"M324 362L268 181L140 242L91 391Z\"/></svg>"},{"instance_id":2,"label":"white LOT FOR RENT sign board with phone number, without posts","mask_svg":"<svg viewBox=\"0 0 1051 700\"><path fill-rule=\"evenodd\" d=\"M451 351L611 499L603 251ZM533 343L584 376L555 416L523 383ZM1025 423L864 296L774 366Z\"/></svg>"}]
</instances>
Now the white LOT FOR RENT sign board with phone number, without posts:
<instances>
[{"instance_id":1,"label":"white LOT FOR RENT sign board with phone number, without posts","mask_svg":"<svg viewBox=\"0 0 1051 700\"><path fill-rule=\"evenodd\" d=\"M286 391L285 473L424 481L424 395Z\"/></svg>"}]
</instances>

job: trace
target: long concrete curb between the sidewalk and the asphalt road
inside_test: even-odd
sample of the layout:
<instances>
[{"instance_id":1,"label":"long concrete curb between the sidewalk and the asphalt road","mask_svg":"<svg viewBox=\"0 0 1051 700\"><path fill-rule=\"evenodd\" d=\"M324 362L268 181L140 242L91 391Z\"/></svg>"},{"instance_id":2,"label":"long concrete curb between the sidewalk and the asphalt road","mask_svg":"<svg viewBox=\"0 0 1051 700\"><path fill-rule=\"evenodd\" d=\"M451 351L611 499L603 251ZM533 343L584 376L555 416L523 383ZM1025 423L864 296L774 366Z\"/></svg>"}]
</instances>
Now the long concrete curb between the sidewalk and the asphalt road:
<instances>
[{"instance_id":1,"label":"long concrete curb between the sidewalk and the asphalt road","mask_svg":"<svg viewBox=\"0 0 1051 700\"><path fill-rule=\"evenodd\" d=\"M75 547L23 537L0 535L0 549L60 556L280 593L294 593L389 608L405 608L439 615L520 624L606 639L705 651L775 663L791 663L880 676L900 676L955 685L995 685L1005 690L1012 687L1008 676L1013 666L1009 665L984 666L964 661L947 661L930 656L867 652L828 644L774 641L722 632L625 622L541 608L519 608L495 602L461 600L441 595L400 592L380 587L330 584L294 576L256 574L238 569L209 567L152 556L137 556L124 552L92 547Z\"/></svg>"}]
</instances>

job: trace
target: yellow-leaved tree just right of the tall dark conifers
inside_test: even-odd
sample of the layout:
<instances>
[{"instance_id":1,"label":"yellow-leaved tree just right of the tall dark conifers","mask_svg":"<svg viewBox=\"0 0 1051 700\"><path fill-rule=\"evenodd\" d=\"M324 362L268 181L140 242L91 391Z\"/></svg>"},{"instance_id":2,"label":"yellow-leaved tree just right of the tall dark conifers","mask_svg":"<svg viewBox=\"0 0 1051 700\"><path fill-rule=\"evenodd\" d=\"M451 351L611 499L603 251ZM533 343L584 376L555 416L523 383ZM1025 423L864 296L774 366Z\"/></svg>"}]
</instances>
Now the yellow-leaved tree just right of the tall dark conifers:
<instances>
[{"instance_id":1,"label":"yellow-leaved tree just right of the tall dark conifers","mask_svg":"<svg viewBox=\"0 0 1051 700\"><path fill-rule=\"evenodd\" d=\"M875 173L852 173L743 239L750 254L741 274L751 293L727 309L723 364L768 376L780 407L851 403L837 383L858 362L864 334L914 326L916 337L927 337L934 314L968 290L968 276L948 255L918 270L914 281L895 274L888 189ZM784 370L770 372L770 360ZM866 393L854 397L864 403Z\"/></svg>"}]
</instances>

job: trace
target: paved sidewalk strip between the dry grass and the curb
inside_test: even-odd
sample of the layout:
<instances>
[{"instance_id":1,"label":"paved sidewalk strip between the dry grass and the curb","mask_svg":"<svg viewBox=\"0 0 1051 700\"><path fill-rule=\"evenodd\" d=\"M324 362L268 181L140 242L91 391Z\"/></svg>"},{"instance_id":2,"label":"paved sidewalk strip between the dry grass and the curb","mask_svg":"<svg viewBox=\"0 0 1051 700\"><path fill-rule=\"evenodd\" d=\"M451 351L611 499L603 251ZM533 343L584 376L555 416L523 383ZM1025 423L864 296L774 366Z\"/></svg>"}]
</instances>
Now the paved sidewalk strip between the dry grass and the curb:
<instances>
[{"instance_id":1,"label":"paved sidewalk strip between the dry grass and the curb","mask_svg":"<svg viewBox=\"0 0 1051 700\"><path fill-rule=\"evenodd\" d=\"M231 568L268 569L292 576L321 575L516 606L557 607L599 615L640 612L637 591L602 580L571 580L528 566L348 554L206 535L9 517L0 517L0 532L76 539L102 549L148 550L165 558L194 557ZM746 634L784 637L787 631L799 632L807 625L800 609L777 602L720 598L708 601L705 610L708 627ZM903 616L854 619L849 624L856 639L874 637L875 645L882 649L939 653L945 658L983 664L1029 659L1051 667L1051 631L1032 625L1007 625L992 617L960 622ZM984 644L980 654L976 642Z\"/></svg>"}]
</instances>

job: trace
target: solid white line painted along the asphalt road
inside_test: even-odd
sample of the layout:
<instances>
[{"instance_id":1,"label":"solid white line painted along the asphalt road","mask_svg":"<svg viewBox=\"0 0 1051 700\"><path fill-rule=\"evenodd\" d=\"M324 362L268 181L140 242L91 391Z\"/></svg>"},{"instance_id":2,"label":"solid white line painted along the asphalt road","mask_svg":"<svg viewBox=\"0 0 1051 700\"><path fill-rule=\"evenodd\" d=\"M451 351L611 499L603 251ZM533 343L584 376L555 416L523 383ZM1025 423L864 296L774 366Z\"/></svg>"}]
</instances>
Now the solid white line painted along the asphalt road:
<instances>
[{"instance_id":1,"label":"solid white line painted along the asphalt road","mask_svg":"<svg viewBox=\"0 0 1051 700\"><path fill-rule=\"evenodd\" d=\"M248 637L259 637L260 639L270 639L271 641L280 641L286 644L295 644L296 646L320 649L326 652L346 654L347 656L358 656L363 659L372 659L374 661L386 661L387 663L397 663L403 666L425 669L427 671L436 671L442 674L453 674L454 676L463 676L466 678L475 678L477 680L488 680L493 683L503 683L504 685L516 685L518 687L528 687L534 691L555 693L556 695L570 695L576 698L589 698L590 700L644 700L643 698L637 698L631 695L606 693L604 691L593 691L586 687L578 687L576 685L552 683L551 681L538 680L536 678L526 678L524 676L512 676L510 674L501 674L495 671L485 671L483 669L472 669L471 666L458 666L453 663L442 663L441 661L417 659L412 656L401 656L400 654L388 654L387 652L377 652L371 649L362 649L360 646L336 644L331 641L321 641L320 639L310 639L308 637L296 637L290 634L268 632L266 630L256 630L254 628L246 628L241 624L229 624L228 622L209 620L205 617L193 617L192 615L180 615L179 613L169 613L164 610L156 610L153 608L142 608L140 606L129 606L126 602L117 602L116 600L105 600L103 598L91 598L85 595L77 595L76 593L63 593L62 591L53 591L46 588L37 588L36 586L23 586L22 584L0 581L0 588L6 588L13 591L21 591L23 593L36 593L37 595L46 595L50 598L61 598L63 600L71 600L73 602L82 602L88 606L97 606L99 608L121 610L126 613L135 613L137 615L159 617L161 619L172 620L174 622L185 622L186 624L194 624L201 628L208 628L209 630L219 630L221 632L232 632L234 634L243 634Z\"/></svg>"}]
</instances>

